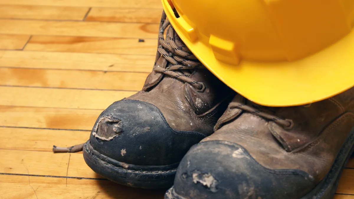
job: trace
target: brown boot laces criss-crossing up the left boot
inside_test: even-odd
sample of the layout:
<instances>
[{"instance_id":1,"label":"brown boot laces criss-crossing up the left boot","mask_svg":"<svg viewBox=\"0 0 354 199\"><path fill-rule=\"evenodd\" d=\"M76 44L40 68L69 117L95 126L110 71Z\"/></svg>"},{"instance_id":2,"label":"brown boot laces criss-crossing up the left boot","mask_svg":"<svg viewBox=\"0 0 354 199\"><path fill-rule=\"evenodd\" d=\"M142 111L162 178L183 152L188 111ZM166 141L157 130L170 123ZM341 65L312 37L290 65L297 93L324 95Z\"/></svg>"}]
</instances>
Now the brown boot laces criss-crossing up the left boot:
<instances>
[{"instance_id":1,"label":"brown boot laces criss-crossing up the left boot","mask_svg":"<svg viewBox=\"0 0 354 199\"><path fill-rule=\"evenodd\" d=\"M166 30L166 40L164 32ZM167 66L156 66L158 59L163 56L169 63ZM193 55L187 46L181 41L165 12L162 12L160 31L158 39L158 50L154 64L154 71L169 75L178 80L184 81L201 90L204 84L189 78L194 69L205 69L202 63Z\"/></svg>"}]
</instances>

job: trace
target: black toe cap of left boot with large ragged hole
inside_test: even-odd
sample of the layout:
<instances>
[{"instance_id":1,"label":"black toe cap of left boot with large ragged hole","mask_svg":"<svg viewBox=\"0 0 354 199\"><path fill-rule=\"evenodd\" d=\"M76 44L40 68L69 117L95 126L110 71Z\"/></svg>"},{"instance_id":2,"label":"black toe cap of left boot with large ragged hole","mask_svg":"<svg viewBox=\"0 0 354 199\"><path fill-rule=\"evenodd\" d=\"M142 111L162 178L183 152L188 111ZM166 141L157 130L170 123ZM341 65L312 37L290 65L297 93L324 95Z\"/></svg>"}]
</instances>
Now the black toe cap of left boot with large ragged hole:
<instances>
[{"instance_id":1,"label":"black toe cap of left boot with large ragged hole","mask_svg":"<svg viewBox=\"0 0 354 199\"><path fill-rule=\"evenodd\" d=\"M127 164L169 165L204 137L173 130L153 104L121 100L99 115L90 143L97 152Z\"/></svg>"}]
</instances>

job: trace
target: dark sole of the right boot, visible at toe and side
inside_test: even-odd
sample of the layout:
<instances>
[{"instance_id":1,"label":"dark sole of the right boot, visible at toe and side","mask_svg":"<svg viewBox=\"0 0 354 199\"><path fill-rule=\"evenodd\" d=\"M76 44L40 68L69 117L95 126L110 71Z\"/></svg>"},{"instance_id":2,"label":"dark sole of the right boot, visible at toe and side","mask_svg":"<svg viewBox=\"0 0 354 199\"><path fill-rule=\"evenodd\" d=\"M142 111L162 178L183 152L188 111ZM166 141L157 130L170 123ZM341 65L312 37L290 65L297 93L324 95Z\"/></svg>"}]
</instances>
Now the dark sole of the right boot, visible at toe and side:
<instances>
[{"instance_id":1,"label":"dark sole of the right boot, visible at toe and side","mask_svg":"<svg viewBox=\"0 0 354 199\"><path fill-rule=\"evenodd\" d=\"M344 167L354 152L354 127L339 151L326 177L308 194L299 199L332 199L336 193ZM173 187L165 193L165 199L187 199L178 195Z\"/></svg>"}]
</instances>

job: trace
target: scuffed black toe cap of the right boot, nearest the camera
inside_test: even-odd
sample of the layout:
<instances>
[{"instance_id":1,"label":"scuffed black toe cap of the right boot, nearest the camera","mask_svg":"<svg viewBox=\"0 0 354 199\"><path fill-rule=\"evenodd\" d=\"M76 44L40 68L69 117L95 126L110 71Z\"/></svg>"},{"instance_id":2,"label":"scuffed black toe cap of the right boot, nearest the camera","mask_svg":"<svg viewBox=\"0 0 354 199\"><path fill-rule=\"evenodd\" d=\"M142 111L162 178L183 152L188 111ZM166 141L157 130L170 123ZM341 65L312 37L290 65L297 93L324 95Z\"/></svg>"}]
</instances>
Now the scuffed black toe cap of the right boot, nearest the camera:
<instances>
[{"instance_id":1,"label":"scuffed black toe cap of the right boot, nearest the camera","mask_svg":"<svg viewBox=\"0 0 354 199\"><path fill-rule=\"evenodd\" d=\"M255 146L256 147L256 146ZM238 144L208 141L193 146L178 166L173 198L301 198L315 186L300 170L270 170Z\"/></svg>"}]
</instances>

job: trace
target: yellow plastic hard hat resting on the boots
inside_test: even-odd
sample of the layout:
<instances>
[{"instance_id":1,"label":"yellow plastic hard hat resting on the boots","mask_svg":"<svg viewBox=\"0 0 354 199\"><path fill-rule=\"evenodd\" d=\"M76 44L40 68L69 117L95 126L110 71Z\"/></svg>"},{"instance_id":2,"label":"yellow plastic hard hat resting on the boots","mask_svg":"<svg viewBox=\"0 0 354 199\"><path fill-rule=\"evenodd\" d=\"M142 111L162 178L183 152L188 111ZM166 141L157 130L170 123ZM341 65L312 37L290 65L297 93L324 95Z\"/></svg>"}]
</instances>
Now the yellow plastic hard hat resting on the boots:
<instances>
[{"instance_id":1,"label":"yellow plastic hard hat resting on the boots","mask_svg":"<svg viewBox=\"0 0 354 199\"><path fill-rule=\"evenodd\" d=\"M258 104L308 104L354 86L354 0L162 4L194 55Z\"/></svg>"}]
</instances>

